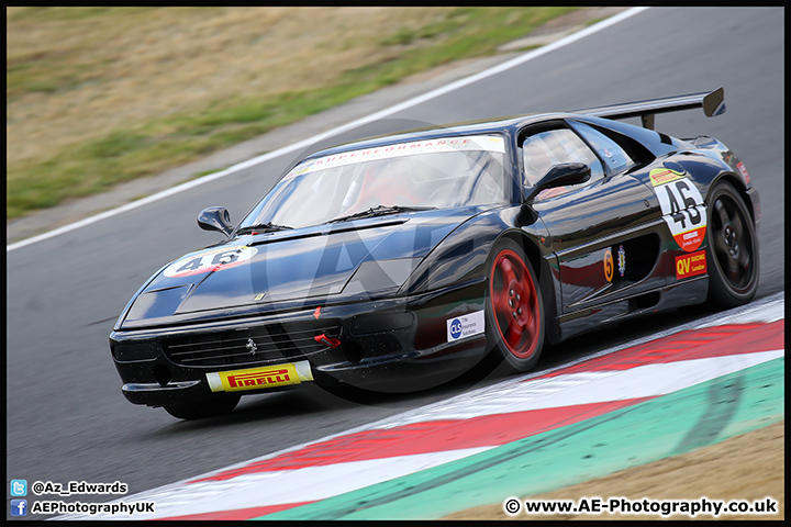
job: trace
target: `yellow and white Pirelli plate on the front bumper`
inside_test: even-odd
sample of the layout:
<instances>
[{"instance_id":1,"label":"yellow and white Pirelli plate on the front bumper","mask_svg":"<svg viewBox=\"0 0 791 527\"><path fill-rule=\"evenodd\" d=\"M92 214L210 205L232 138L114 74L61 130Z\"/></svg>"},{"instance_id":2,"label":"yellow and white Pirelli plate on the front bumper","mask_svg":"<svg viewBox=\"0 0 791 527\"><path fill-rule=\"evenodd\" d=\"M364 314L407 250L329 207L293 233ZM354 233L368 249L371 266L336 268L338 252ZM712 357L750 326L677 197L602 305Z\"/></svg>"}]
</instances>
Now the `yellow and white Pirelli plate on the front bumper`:
<instances>
[{"instance_id":1,"label":"yellow and white Pirelli plate on the front bumper","mask_svg":"<svg viewBox=\"0 0 791 527\"><path fill-rule=\"evenodd\" d=\"M286 386L312 381L313 373L307 360L267 366L264 368L248 368L245 370L216 371L207 373L209 388L212 392L243 392L245 390L259 390L261 388Z\"/></svg>"}]
</instances>

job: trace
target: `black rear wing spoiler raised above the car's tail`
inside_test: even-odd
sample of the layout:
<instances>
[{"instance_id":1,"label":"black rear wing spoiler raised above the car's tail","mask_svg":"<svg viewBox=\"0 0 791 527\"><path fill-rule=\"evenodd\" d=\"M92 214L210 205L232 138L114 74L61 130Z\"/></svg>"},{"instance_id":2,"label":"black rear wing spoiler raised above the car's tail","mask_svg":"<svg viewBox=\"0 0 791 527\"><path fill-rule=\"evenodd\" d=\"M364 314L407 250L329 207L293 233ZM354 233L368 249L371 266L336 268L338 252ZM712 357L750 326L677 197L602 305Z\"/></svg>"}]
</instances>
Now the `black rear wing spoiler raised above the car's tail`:
<instances>
[{"instance_id":1,"label":"black rear wing spoiler raised above the car's tail","mask_svg":"<svg viewBox=\"0 0 791 527\"><path fill-rule=\"evenodd\" d=\"M628 119L640 117L643 127L654 130L654 115L657 113L680 112L702 108L706 117L725 113L725 90L717 88L714 91L702 91L689 96L666 97L648 101L627 102L611 106L590 108L573 113L582 113L594 117Z\"/></svg>"}]
</instances>

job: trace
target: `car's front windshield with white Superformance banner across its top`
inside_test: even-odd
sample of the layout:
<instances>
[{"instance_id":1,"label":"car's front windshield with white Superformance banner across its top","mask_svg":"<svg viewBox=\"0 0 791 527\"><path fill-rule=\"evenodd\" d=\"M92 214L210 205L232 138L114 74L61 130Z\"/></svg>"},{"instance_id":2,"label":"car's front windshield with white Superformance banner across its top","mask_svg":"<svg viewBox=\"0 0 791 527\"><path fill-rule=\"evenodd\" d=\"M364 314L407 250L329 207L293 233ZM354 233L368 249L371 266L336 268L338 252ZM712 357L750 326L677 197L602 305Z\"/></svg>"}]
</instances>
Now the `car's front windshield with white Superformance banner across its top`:
<instances>
[{"instance_id":1,"label":"car's front windshield with white Superformance banner across its top","mask_svg":"<svg viewBox=\"0 0 791 527\"><path fill-rule=\"evenodd\" d=\"M300 228L372 215L506 200L499 135L445 137L308 159L243 220Z\"/></svg>"}]
</instances>

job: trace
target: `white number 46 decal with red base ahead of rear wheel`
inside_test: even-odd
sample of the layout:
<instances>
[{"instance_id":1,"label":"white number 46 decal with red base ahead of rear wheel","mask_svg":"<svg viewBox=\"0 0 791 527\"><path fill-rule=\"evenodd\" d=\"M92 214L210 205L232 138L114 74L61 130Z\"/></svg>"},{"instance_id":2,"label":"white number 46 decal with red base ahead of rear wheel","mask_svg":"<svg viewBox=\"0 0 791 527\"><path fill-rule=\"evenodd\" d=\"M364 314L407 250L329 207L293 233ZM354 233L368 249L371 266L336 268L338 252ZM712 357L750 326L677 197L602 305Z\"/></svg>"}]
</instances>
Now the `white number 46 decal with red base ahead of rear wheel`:
<instances>
[{"instance_id":1,"label":"white number 46 decal with red base ahead of rear wheel","mask_svg":"<svg viewBox=\"0 0 791 527\"><path fill-rule=\"evenodd\" d=\"M670 234L679 247L692 253L705 237L706 212L703 197L684 175L669 168L655 168L648 176Z\"/></svg>"}]
</instances>

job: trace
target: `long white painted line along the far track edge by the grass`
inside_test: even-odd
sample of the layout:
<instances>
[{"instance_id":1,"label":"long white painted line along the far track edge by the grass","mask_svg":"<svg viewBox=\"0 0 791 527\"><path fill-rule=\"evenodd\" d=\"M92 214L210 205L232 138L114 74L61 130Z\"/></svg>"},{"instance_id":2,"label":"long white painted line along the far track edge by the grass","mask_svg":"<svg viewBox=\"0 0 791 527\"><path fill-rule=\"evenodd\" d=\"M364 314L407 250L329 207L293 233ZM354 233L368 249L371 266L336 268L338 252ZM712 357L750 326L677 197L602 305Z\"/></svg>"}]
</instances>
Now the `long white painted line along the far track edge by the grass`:
<instances>
[{"instance_id":1,"label":"long white painted line along the far track edge by the grass","mask_svg":"<svg viewBox=\"0 0 791 527\"><path fill-rule=\"evenodd\" d=\"M605 19L597 24L593 24L589 27L586 27L583 30L580 30L576 33L572 33L564 38L560 38L558 41L555 41L554 43L547 44L546 46L542 46L537 49L534 49L532 52L528 52L524 55L521 55L516 58L513 58L511 60L508 60L503 64L500 64L498 66L494 66L490 69L483 70L479 74L472 75L470 77L465 77L464 79L459 79L455 82L452 82L449 85L446 85L442 88L437 88L435 90L432 90L427 93L424 93L422 96L417 96L413 99L410 99L408 101L401 102L399 104L396 104L393 106L390 106L388 109L381 110L376 113L371 113L365 117L360 117L356 121L353 121L350 123L346 123L344 125L341 125L338 127L332 128L327 132L321 133L319 135L315 135L313 137L310 137L308 139L300 141L298 143L292 143L291 145L283 146L281 148L278 148L276 150L272 150L270 153L264 154L261 156L254 157L252 159L248 159L246 161L242 161L239 164L236 164L232 167L226 168L225 170L222 170L220 172L211 173L208 176L204 176L199 179L194 179L192 181L188 181L186 183L181 183L177 187L174 187L171 189L158 192L156 194L152 194L149 197L143 198L137 201L133 201L132 203L127 203L125 205L122 205L118 209L112 209L110 211L105 211L101 214L97 214L96 216L90 216L85 220L81 220L76 223L71 223L68 225L65 225L63 227L56 228L55 231L51 231L48 233L40 234L37 236L33 236L32 238L23 239L21 242L16 242L11 245L5 246L5 251L10 253L14 249L19 249L22 247L25 247L31 244L35 244L37 242L43 242L48 238L54 238L55 236L59 236L62 234L66 234L68 232L75 231L77 228L83 227L86 225L90 225L92 223L100 222L102 220L107 220L108 217L115 216L118 214L121 214L126 211L131 211L133 209L137 209L143 205L147 205L148 203L153 203L155 201L159 201L164 198L167 198L169 195L183 192L186 190L189 190L193 187L198 187L203 183L208 183L211 181L214 181L215 179L223 178L225 176L230 176L232 173L238 172L239 170L244 170L245 168L249 168L252 166L258 165L260 162L268 161L269 159L274 159L276 157L289 154L291 152L298 150L300 148L309 147L320 141L323 141L327 137L332 137L333 135L341 134L343 132L346 132L348 130L356 128L358 126L361 126L364 124L368 124L370 122L374 122L378 119L382 119L389 115L392 115L393 113L398 113L402 110L406 110L409 108L415 106L417 104L421 104L423 102L430 101L432 99L435 99L439 96L444 96L445 93L448 93L450 91L457 90L459 88L463 88L467 85L471 85L472 82L477 82L478 80L484 79L487 77L491 77L492 75L497 75L499 72L505 71L508 69L511 69L515 66L519 66L520 64L526 63L528 60L532 60L536 57L539 57L542 55L545 55L547 53L554 52L555 49L558 49L560 47L565 47L569 44L572 44L581 38L584 38L586 36L592 35L593 33L598 33L599 31L602 31L606 27L610 27L611 25L614 25L619 22L622 22L631 16L634 16L635 14L638 14L648 8L632 8L626 11L623 11L619 14L615 14L613 16L610 16L609 19Z\"/></svg>"}]
</instances>

